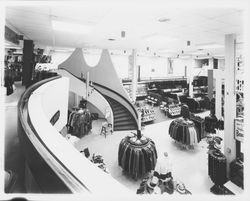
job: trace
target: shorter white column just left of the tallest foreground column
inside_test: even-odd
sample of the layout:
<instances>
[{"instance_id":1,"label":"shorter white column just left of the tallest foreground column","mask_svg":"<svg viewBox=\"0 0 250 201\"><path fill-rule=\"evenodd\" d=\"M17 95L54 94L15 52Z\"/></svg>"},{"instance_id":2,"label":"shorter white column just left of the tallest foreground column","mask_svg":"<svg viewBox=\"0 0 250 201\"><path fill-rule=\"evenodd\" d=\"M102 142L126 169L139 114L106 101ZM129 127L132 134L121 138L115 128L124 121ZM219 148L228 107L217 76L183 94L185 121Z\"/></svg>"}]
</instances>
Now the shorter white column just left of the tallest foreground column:
<instances>
[{"instance_id":1,"label":"shorter white column just left of the tallest foreground column","mask_svg":"<svg viewBox=\"0 0 250 201\"><path fill-rule=\"evenodd\" d=\"M222 71L214 70L215 75L215 116L221 118L221 98L222 98Z\"/></svg>"}]
</instances>

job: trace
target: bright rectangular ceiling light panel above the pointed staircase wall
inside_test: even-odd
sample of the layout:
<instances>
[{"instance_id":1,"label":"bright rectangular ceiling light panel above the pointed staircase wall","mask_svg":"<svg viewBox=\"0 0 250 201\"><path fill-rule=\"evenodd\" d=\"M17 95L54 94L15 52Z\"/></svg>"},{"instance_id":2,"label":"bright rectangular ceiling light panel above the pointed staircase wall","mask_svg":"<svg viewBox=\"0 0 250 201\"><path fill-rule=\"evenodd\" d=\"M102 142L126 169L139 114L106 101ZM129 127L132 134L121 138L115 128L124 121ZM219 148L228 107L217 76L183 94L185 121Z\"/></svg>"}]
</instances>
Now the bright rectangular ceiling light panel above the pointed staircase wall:
<instances>
[{"instance_id":1,"label":"bright rectangular ceiling light panel above the pointed staircase wall","mask_svg":"<svg viewBox=\"0 0 250 201\"><path fill-rule=\"evenodd\" d=\"M87 34L91 32L92 26L90 25L83 25L83 24L76 24L71 22L62 22L52 20L52 28L57 31L65 31L71 33L83 33Z\"/></svg>"}]
</instances>

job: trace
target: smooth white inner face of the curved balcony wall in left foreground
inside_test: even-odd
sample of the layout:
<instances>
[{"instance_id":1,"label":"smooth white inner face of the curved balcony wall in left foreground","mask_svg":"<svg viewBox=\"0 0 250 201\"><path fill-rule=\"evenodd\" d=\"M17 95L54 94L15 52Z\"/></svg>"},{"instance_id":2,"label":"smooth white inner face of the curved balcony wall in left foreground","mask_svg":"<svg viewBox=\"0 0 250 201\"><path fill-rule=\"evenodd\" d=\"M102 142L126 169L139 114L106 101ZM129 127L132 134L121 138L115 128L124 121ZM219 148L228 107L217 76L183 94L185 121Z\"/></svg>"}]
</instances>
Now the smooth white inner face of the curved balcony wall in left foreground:
<instances>
[{"instance_id":1,"label":"smooth white inner face of the curved balcony wall in left foreground","mask_svg":"<svg viewBox=\"0 0 250 201\"><path fill-rule=\"evenodd\" d=\"M55 170L63 181L66 181L66 184L73 192L87 193L88 191L83 189L81 185L77 185L77 182L74 183L69 171L95 195L112 195L114 192L124 195L131 194L125 186L113 179L110 174L106 174L95 166L58 133L57 129L66 120L63 113L67 110L67 107L63 108L65 102L62 103L60 99L68 95L68 88L63 88L67 84L67 78L60 78L39 87L29 98L28 111L30 121L40 139L56 158L67 167L68 171L55 160L34 135L28 135L30 141L47 161L48 165ZM48 105L48 100L51 100L51 97L55 100ZM62 103L62 105L59 103ZM52 111L49 112L49 110L61 111L61 109L62 116L60 116L60 123L58 122L56 128L49 122L50 115L53 113Z\"/></svg>"}]
</instances>

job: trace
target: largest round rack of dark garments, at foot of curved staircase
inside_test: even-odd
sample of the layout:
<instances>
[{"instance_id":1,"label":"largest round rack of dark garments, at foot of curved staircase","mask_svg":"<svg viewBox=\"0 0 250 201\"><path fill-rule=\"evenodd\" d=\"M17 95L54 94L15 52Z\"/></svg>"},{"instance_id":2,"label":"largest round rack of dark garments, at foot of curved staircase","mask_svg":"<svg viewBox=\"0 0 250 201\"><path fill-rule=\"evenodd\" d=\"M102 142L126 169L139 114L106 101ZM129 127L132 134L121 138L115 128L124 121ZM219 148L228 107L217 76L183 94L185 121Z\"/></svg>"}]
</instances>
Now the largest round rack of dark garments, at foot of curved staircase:
<instances>
[{"instance_id":1,"label":"largest round rack of dark garments, at foot of curved staircase","mask_svg":"<svg viewBox=\"0 0 250 201\"><path fill-rule=\"evenodd\" d=\"M157 161L155 143L150 139L135 135L126 136L119 145L118 164L124 173L134 179L143 177L153 170Z\"/></svg>"}]
</instances>

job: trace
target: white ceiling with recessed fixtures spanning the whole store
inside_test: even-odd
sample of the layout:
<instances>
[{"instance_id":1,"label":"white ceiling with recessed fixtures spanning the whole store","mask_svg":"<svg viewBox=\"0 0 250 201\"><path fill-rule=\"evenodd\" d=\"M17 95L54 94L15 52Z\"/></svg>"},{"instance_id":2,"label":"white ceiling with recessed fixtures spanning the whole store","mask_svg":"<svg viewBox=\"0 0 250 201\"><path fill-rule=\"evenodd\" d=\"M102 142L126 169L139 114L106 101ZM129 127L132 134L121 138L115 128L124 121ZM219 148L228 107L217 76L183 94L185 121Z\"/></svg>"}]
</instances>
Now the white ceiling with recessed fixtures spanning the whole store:
<instances>
[{"instance_id":1,"label":"white ceiling with recessed fixtures spanning the whole store","mask_svg":"<svg viewBox=\"0 0 250 201\"><path fill-rule=\"evenodd\" d=\"M159 19L167 18L167 22ZM52 29L51 20L91 25L89 34ZM240 47L243 41L243 11L240 8L184 8L131 6L131 4L54 4L49 6L9 6L6 23L15 27L37 46L137 49L157 54L223 54L224 48L206 49L199 44L224 45L225 34L235 33ZM125 38L121 37L125 31ZM154 36L152 38L152 36ZM115 41L109 41L109 38ZM190 46L187 46L190 41ZM167 49L167 50L166 50ZM165 53L163 52L165 50ZM182 52L182 53L183 53Z\"/></svg>"}]
</instances>

